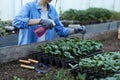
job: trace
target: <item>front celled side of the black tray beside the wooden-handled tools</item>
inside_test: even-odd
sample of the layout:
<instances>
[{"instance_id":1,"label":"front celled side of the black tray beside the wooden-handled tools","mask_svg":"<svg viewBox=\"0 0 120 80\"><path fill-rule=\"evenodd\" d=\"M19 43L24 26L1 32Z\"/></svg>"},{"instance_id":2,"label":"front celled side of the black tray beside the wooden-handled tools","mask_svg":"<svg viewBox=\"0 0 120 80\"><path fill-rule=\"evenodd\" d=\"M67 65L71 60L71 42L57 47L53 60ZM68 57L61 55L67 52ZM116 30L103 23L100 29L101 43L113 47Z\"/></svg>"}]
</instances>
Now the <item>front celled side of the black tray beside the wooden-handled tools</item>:
<instances>
[{"instance_id":1,"label":"front celled side of the black tray beside the wooden-handled tools","mask_svg":"<svg viewBox=\"0 0 120 80\"><path fill-rule=\"evenodd\" d=\"M68 59L63 59L55 56L48 56L44 55L43 53L37 53L36 59L40 61L41 63L44 63L46 65L52 65L57 67L68 67L68 64L70 63ZM71 60L72 62L72 60Z\"/></svg>"}]
</instances>

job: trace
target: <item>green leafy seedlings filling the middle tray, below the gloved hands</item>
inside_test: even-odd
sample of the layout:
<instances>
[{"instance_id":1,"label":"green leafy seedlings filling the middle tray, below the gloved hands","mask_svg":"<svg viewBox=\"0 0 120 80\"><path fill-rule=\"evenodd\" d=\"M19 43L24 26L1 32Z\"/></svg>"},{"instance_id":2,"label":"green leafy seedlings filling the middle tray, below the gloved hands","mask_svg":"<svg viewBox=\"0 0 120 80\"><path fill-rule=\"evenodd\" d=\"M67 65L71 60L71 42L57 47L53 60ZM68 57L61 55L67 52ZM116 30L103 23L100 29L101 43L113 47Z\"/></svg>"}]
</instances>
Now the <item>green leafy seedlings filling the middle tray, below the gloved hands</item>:
<instances>
[{"instance_id":1,"label":"green leafy seedlings filling the middle tray, below the gloved hands","mask_svg":"<svg viewBox=\"0 0 120 80\"><path fill-rule=\"evenodd\" d=\"M47 45L39 45L37 49L46 55L74 59L75 57L87 56L102 48L103 44L99 41L66 38Z\"/></svg>"}]
</instances>

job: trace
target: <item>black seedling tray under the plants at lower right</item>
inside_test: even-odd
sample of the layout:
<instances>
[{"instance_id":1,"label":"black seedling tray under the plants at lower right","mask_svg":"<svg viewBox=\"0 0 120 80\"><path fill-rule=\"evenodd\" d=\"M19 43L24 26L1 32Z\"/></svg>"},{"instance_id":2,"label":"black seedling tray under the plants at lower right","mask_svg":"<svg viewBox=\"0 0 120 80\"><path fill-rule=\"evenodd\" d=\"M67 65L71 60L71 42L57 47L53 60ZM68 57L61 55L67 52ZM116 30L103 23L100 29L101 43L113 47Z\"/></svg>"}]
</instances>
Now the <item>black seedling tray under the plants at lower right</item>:
<instances>
[{"instance_id":1,"label":"black seedling tray under the plants at lower right","mask_svg":"<svg viewBox=\"0 0 120 80\"><path fill-rule=\"evenodd\" d=\"M71 74L74 75L75 80L76 80L76 76L78 75L78 73L80 74L86 74L86 79L85 80L94 80L94 79L99 79L99 78L105 78L109 75L115 74L114 71L104 71L101 68L98 68L97 71L94 68L84 68L84 69L80 69L80 67L77 67L75 69L70 70Z\"/></svg>"}]
</instances>

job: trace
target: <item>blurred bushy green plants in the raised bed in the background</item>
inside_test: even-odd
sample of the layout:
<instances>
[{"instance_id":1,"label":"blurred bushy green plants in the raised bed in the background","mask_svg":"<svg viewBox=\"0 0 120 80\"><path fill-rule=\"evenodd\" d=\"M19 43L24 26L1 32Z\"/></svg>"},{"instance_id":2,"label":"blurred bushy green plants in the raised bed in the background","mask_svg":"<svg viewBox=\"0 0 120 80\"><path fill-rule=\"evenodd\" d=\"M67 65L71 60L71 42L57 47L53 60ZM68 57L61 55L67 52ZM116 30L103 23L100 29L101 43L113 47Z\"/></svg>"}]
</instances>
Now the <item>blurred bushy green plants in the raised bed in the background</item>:
<instances>
[{"instance_id":1,"label":"blurred bushy green plants in the raised bed in the background","mask_svg":"<svg viewBox=\"0 0 120 80\"><path fill-rule=\"evenodd\" d=\"M60 14L60 20L78 20L80 23L101 23L120 20L120 13L103 8L89 8L86 10L69 9Z\"/></svg>"}]
</instances>

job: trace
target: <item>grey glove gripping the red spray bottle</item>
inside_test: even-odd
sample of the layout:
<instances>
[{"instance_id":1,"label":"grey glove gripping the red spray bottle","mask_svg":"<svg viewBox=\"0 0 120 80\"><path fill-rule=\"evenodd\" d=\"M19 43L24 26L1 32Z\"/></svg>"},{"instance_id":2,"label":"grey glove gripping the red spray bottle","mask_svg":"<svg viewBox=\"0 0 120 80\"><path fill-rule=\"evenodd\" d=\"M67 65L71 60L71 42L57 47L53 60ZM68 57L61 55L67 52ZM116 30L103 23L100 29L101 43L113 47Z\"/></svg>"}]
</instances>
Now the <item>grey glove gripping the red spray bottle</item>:
<instances>
[{"instance_id":1,"label":"grey glove gripping the red spray bottle","mask_svg":"<svg viewBox=\"0 0 120 80\"><path fill-rule=\"evenodd\" d=\"M52 27L55 26L54 25L55 23L52 20L47 20L47 19L41 19L39 24L46 29L52 29Z\"/></svg>"}]
</instances>

